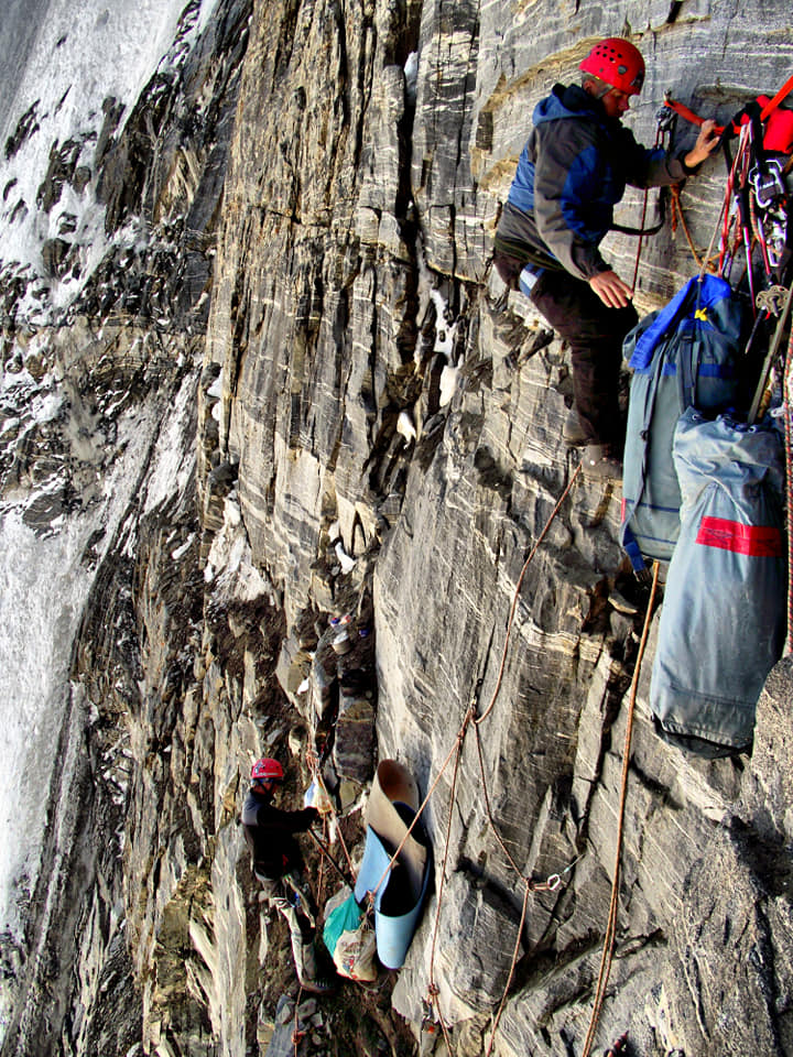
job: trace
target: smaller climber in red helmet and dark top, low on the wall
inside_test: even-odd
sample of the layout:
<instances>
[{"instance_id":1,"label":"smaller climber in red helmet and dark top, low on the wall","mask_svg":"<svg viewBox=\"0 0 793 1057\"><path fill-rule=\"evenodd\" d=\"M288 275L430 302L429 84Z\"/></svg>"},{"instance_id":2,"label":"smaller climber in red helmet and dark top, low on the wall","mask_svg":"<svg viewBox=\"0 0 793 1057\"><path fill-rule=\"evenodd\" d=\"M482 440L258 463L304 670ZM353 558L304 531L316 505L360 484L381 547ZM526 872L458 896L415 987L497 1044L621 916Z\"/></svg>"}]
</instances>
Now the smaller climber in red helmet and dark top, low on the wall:
<instances>
[{"instance_id":1,"label":"smaller climber in red helmet and dark top, low on the wall","mask_svg":"<svg viewBox=\"0 0 793 1057\"><path fill-rule=\"evenodd\" d=\"M275 807L273 795L282 783L283 769L278 760L268 756L258 760L251 769L251 787L241 821L262 898L289 926L297 979L306 991L319 993L332 990L333 982L317 970L316 915L303 876L303 856L295 840L295 833L311 828L318 811L315 807L297 811Z\"/></svg>"}]
</instances>

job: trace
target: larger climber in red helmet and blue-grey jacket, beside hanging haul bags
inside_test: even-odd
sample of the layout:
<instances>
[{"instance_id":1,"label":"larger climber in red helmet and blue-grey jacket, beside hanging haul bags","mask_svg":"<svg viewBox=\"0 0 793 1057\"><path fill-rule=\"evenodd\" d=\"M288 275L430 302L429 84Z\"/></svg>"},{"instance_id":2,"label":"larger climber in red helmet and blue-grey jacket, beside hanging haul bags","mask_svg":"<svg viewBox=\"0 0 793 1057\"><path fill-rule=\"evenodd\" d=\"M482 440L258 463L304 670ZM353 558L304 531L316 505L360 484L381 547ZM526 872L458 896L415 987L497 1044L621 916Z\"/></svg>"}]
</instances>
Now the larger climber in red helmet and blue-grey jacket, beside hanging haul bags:
<instances>
[{"instance_id":1,"label":"larger climber in red helmet and blue-grey jacket, beside hanging haul bags","mask_svg":"<svg viewBox=\"0 0 793 1057\"><path fill-rule=\"evenodd\" d=\"M571 347L575 405L564 439L585 446L585 476L621 480L619 372L622 341L638 316L633 291L598 247L627 184L677 183L719 140L706 121L687 153L637 143L621 118L641 91L644 61L628 41L600 41L579 68L580 86L556 85L534 110L496 231L493 263Z\"/></svg>"}]
</instances>

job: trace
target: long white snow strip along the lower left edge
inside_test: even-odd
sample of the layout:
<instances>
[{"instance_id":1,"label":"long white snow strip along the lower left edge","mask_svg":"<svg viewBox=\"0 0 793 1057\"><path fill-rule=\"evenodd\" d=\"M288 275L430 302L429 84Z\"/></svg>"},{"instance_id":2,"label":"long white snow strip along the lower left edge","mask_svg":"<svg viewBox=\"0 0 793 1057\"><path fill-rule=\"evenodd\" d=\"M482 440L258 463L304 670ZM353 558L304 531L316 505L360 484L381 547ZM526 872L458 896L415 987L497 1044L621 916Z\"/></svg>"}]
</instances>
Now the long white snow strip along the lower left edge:
<instances>
[{"instance_id":1,"label":"long white snow strip along the lower left edge","mask_svg":"<svg viewBox=\"0 0 793 1057\"><path fill-rule=\"evenodd\" d=\"M45 536L28 527L23 510L57 491L57 478L0 508L0 930L19 939L40 869L41 791L69 704L72 647L97 566L83 558L89 541L100 559L113 540L154 428L140 414L122 417L117 450L123 455L104 479L101 498L84 513L58 517Z\"/></svg>"}]
</instances>

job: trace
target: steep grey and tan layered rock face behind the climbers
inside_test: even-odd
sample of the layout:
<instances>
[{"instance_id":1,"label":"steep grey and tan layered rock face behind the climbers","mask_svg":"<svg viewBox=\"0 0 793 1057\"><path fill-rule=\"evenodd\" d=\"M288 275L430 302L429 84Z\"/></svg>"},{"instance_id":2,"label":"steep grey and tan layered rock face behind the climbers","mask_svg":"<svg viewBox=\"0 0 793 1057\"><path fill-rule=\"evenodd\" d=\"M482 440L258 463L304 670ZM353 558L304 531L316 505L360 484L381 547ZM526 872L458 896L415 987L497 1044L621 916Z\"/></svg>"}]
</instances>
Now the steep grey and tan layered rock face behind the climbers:
<instances>
[{"instance_id":1,"label":"steep grey and tan layered rock face behind the climbers","mask_svg":"<svg viewBox=\"0 0 793 1057\"><path fill-rule=\"evenodd\" d=\"M107 224L160 237L109 254L37 355L84 397L123 392L105 428L122 411L151 428L129 502L86 548L68 772L3 1057L241 1057L271 1028L283 1049L285 936L260 915L236 816L257 755L282 755L296 799L317 739L351 844L374 751L433 787L435 885L399 978L304 1011L305 1051L327 1034L339 1053L409 1051L427 998L458 1055L582 1051L648 591L617 543L619 490L580 479L522 575L575 470L572 383L490 270L492 229L534 103L595 39L642 48L648 142L667 87L721 120L775 91L793 53L778 8L229 0L188 75L108 132ZM67 161L43 205L83 178ZM683 190L700 253L723 190L716 162ZM70 252L53 246L48 271ZM624 275L633 252L609 238ZM640 305L695 266L664 229ZM4 370L26 357L33 379L12 293ZM28 508L42 531L88 501L95 464L64 455L75 414L36 447L2 434L7 498L55 449L69 467L57 510ZM365 632L347 661L326 631L343 614ZM793 1053L790 663L752 755L706 762L655 735L651 660L652 636L596 1047L627 1031L647 1057Z\"/></svg>"}]
</instances>

